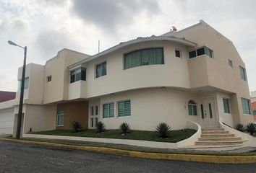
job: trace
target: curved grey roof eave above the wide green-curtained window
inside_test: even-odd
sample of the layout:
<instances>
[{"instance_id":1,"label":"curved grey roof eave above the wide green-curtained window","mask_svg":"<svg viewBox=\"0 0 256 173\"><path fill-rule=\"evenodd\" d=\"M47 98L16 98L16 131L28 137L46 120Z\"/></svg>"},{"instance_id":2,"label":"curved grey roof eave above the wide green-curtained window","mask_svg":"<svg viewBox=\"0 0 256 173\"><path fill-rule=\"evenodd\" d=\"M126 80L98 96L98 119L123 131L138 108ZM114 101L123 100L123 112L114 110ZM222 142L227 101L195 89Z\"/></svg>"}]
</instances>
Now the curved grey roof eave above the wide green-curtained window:
<instances>
[{"instance_id":1,"label":"curved grey roof eave above the wide green-curtained window","mask_svg":"<svg viewBox=\"0 0 256 173\"><path fill-rule=\"evenodd\" d=\"M142 42L148 42L148 41L163 41L163 40L174 41L176 43L181 43L183 45L187 45L187 46L191 46L191 47L197 46L197 43L193 43L193 42L191 42L189 40L186 40L184 38L174 37L174 36L155 36L155 35L152 35L151 37L137 37L134 40L129 40L127 42L122 42L119 45L115 45L111 48L108 48L107 50L104 50L101 53L97 53L94 56L90 56L88 58L83 59L82 61L78 61L77 63L74 63L71 66L68 66L68 68L73 68L75 66L79 66L81 63L86 63L88 61L92 61L95 58L100 58L101 56L105 56L108 53L114 52L115 50L119 50L120 48L124 48L127 45L133 45L135 43L142 43Z\"/></svg>"}]
</instances>

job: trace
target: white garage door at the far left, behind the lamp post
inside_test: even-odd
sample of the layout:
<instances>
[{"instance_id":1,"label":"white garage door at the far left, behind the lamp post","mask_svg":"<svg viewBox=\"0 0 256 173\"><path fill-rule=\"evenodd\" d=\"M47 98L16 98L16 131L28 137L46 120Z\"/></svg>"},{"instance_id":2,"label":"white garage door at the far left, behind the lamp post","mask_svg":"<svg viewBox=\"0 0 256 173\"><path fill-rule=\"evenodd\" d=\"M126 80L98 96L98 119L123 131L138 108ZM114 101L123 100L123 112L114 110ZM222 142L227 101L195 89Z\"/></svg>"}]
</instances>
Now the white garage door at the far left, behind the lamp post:
<instances>
[{"instance_id":1,"label":"white garage door at the far left, behind the lamp post","mask_svg":"<svg viewBox=\"0 0 256 173\"><path fill-rule=\"evenodd\" d=\"M0 110L0 135L12 134L14 120L14 109Z\"/></svg>"}]
</instances>

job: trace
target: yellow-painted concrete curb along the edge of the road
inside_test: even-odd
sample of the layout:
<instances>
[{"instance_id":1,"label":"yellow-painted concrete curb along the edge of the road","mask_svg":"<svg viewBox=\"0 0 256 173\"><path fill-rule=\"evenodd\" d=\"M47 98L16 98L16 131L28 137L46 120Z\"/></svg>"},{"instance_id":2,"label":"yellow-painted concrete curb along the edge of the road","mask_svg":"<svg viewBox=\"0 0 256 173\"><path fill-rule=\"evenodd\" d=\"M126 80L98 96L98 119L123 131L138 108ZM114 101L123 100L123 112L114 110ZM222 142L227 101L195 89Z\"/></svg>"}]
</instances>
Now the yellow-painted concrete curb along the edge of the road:
<instances>
[{"instance_id":1,"label":"yellow-painted concrete curb along the edge of the road","mask_svg":"<svg viewBox=\"0 0 256 173\"><path fill-rule=\"evenodd\" d=\"M147 153L140 151L127 151L115 148L106 148L98 146L73 146L68 144L39 142L39 141L23 141L17 139L0 138L1 141L12 141L18 143L39 144L44 146L56 146L62 148L73 148L85 151L95 151L105 154L116 154L121 156L132 156L143 159L166 159L178 161L197 161L213 164L255 164L256 156L209 156L209 155L194 155L194 154L158 154Z\"/></svg>"}]
</instances>

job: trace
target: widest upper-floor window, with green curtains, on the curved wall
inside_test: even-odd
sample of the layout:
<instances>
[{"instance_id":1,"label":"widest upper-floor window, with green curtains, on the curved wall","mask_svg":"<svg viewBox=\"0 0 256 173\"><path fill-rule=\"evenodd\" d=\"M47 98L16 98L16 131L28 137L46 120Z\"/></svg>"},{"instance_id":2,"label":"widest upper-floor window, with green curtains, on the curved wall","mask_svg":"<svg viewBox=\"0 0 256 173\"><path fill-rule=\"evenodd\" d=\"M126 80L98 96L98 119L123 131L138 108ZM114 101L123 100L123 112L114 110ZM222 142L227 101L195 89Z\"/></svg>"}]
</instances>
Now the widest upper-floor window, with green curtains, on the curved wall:
<instances>
[{"instance_id":1,"label":"widest upper-floor window, with green curtains, on the curved wall","mask_svg":"<svg viewBox=\"0 0 256 173\"><path fill-rule=\"evenodd\" d=\"M124 69L163 64L163 48L147 48L124 54Z\"/></svg>"}]
</instances>

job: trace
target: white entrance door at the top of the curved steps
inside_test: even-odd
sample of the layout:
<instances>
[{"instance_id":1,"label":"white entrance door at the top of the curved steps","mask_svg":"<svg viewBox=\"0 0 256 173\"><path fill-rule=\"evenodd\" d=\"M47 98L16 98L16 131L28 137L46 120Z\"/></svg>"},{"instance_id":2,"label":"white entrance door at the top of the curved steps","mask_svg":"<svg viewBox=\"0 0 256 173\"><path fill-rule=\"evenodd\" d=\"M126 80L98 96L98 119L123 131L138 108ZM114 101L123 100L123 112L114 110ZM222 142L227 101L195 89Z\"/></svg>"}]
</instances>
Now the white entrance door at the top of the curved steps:
<instances>
[{"instance_id":1,"label":"white entrance door at the top of the curved steps","mask_svg":"<svg viewBox=\"0 0 256 173\"><path fill-rule=\"evenodd\" d=\"M218 128L214 98L204 98L200 105L203 128Z\"/></svg>"}]
</instances>

